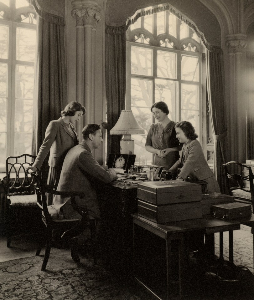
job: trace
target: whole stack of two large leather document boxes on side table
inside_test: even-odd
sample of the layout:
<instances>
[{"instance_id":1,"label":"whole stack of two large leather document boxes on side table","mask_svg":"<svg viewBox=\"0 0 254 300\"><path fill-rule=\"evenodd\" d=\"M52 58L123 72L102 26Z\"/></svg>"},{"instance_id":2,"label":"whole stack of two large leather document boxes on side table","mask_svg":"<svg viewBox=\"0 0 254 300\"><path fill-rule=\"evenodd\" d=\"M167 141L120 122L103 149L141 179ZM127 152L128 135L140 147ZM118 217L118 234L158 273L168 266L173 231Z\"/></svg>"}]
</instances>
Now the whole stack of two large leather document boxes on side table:
<instances>
[{"instance_id":1,"label":"whole stack of two large leather document boxes on side table","mask_svg":"<svg viewBox=\"0 0 254 300\"><path fill-rule=\"evenodd\" d=\"M202 218L201 186L185 181L137 184L137 213L156 223Z\"/></svg>"}]
</instances>

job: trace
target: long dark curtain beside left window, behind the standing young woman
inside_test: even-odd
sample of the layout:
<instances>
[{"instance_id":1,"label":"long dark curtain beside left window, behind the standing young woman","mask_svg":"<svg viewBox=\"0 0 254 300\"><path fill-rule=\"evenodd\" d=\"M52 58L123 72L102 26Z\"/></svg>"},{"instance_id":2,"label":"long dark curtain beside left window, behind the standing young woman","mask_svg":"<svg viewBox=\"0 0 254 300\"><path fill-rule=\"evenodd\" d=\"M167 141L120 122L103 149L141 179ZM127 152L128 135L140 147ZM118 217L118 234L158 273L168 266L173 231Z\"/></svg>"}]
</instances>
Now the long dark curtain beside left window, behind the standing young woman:
<instances>
[{"instance_id":1,"label":"long dark curtain beside left window, behind the standing young woman","mask_svg":"<svg viewBox=\"0 0 254 300\"><path fill-rule=\"evenodd\" d=\"M41 146L49 122L58 119L67 104L64 1L30 0L37 12L35 105L32 154ZM47 178L48 160L42 166Z\"/></svg>"}]
</instances>

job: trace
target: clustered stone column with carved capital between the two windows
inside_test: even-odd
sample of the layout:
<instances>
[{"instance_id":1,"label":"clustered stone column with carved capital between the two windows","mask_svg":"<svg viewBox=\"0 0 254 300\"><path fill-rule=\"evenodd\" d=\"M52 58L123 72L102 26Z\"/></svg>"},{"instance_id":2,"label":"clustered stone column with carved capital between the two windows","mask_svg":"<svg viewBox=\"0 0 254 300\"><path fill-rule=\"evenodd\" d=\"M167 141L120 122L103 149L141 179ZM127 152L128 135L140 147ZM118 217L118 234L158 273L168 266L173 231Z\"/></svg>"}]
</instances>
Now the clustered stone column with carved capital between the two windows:
<instances>
[{"instance_id":1,"label":"clustered stone column with carved capital between the two windows","mask_svg":"<svg viewBox=\"0 0 254 300\"><path fill-rule=\"evenodd\" d=\"M86 108L84 122L77 126L81 137L83 126L95 119L95 34L101 7L94 0L74 0L72 5L77 20L76 98Z\"/></svg>"}]
</instances>

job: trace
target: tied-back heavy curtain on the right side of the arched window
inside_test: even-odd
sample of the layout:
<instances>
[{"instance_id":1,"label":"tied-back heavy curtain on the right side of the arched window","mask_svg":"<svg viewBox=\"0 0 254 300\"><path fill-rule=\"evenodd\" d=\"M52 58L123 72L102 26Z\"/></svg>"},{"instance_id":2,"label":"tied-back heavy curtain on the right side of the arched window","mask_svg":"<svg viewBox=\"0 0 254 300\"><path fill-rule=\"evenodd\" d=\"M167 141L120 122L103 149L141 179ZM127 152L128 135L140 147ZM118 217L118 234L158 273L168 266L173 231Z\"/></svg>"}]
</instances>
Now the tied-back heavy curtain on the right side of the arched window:
<instances>
[{"instance_id":1,"label":"tied-back heavy curtain on the right side of the arched window","mask_svg":"<svg viewBox=\"0 0 254 300\"><path fill-rule=\"evenodd\" d=\"M222 53L205 51L206 82L211 123L214 133L214 174L220 191L226 194L225 176L222 164L227 162L227 127L224 105L224 80Z\"/></svg>"}]
</instances>

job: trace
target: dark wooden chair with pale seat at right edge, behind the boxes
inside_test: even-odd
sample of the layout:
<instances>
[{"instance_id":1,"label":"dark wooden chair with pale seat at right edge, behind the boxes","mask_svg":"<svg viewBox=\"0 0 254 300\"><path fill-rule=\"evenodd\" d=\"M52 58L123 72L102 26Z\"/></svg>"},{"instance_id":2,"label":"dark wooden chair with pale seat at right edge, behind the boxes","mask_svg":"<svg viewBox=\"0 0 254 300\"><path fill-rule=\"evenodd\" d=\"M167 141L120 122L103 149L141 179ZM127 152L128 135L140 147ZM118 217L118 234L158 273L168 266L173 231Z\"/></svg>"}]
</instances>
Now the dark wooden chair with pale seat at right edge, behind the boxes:
<instances>
[{"instance_id":1,"label":"dark wooden chair with pale seat at right edge, behind the boxes","mask_svg":"<svg viewBox=\"0 0 254 300\"><path fill-rule=\"evenodd\" d=\"M254 175L251 166L241 164L237 161L230 161L223 164L228 194L234 196L235 201L252 204L254 212ZM243 168L248 174L243 174Z\"/></svg>"}]
</instances>

